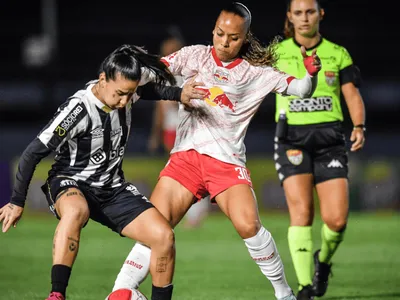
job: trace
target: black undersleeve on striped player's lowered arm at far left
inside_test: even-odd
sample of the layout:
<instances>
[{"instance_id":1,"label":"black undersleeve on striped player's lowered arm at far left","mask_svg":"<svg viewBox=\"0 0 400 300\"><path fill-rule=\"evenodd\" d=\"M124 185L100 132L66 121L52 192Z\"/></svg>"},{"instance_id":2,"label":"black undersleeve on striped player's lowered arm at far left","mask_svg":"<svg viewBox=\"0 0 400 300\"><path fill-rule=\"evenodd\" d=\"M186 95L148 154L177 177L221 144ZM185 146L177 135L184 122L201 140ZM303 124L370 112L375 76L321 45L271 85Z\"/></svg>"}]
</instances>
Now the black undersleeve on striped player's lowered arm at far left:
<instances>
[{"instance_id":1,"label":"black undersleeve on striped player's lowered arm at far left","mask_svg":"<svg viewBox=\"0 0 400 300\"><path fill-rule=\"evenodd\" d=\"M37 164L50 153L51 150L48 149L38 138L35 138L22 153L18 163L17 175L15 177L13 193L10 201L12 204L24 207L28 187L33 173L35 172L35 168Z\"/></svg>"}]
</instances>

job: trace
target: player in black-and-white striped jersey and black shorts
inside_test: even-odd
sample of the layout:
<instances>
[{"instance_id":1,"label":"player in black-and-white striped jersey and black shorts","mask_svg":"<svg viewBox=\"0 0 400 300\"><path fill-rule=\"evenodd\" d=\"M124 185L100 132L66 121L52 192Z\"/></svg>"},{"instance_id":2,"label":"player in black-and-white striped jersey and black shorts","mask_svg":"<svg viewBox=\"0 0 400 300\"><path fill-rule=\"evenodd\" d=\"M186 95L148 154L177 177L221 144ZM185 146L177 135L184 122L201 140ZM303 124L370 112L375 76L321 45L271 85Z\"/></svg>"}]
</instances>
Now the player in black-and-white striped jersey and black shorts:
<instances>
[{"instance_id":1,"label":"player in black-and-white striped jersey and black shorts","mask_svg":"<svg viewBox=\"0 0 400 300\"><path fill-rule=\"evenodd\" d=\"M152 74L157 85L143 85ZM141 82L142 80L142 82ZM174 233L165 218L135 186L124 180L122 160L131 128L132 104L139 97L185 103L202 98L196 84L182 89L159 58L123 45L105 58L97 80L62 104L21 156L9 204L0 209L3 232L21 218L36 165L56 152L43 185L50 209L60 220L53 242L51 293L64 300L80 234L89 218L121 236L152 248L152 299L171 299L175 264Z\"/></svg>"}]
</instances>

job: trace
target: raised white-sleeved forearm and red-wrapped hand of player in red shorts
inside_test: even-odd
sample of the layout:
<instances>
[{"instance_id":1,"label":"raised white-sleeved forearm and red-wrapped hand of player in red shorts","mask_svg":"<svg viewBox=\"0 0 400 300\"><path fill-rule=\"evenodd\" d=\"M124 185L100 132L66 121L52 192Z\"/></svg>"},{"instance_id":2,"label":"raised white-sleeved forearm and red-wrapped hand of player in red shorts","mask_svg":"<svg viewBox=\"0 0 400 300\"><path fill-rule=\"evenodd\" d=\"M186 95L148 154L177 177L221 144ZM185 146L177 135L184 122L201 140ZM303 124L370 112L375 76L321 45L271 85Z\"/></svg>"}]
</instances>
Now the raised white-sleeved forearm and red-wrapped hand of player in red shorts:
<instances>
[{"instance_id":1,"label":"raised white-sleeved forearm and red-wrapped hand of player in red shorts","mask_svg":"<svg viewBox=\"0 0 400 300\"><path fill-rule=\"evenodd\" d=\"M302 79L293 79L287 88L287 94L300 98L311 97L318 84L318 72L321 70L321 60L317 55L317 49L314 49L309 56L304 46L301 46L301 54L303 56L304 67L307 70L306 75Z\"/></svg>"}]
</instances>

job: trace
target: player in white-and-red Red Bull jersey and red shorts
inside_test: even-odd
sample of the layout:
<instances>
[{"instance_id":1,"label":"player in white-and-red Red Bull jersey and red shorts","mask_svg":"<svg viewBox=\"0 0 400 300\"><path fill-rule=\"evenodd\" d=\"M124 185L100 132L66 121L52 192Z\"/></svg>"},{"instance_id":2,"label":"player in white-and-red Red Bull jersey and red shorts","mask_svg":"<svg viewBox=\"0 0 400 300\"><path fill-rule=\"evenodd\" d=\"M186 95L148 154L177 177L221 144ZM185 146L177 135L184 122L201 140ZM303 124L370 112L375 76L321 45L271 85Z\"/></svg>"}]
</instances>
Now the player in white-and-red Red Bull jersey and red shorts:
<instances>
[{"instance_id":1,"label":"player in white-and-red Red Bull jersey and red shorts","mask_svg":"<svg viewBox=\"0 0 400 300\"><path fill-rule=\"evenodd\" d=\"M192 101L190 111L180 107L175 146L150 201L175 227L194 200L210 194L272 283L276 298L295 299L274 239L258 215L244 138L267 94L310 97L321 66L315 53L307 56L302 49L307 69L302 79L274 69L274 44L263 47L250 32L250 24L248 8L231 3L216 21L213 46L183 47L164 58L174 75L203 82L207 96L204 101ZM138 245L128 259L148 255L150 249ZM114 289L136 287L145 276L144 272L131 276L129 266L123 266Z\"/></svg>"}]
</instances>

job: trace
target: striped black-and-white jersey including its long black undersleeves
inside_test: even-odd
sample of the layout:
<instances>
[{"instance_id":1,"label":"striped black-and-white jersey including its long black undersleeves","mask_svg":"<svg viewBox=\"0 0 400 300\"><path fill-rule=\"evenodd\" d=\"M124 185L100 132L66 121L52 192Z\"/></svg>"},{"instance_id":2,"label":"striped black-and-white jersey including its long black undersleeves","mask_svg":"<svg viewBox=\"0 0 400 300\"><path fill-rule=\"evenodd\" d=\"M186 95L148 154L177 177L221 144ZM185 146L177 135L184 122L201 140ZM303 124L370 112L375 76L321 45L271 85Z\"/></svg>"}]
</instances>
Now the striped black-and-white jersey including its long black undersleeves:
<instances>
[{"instance_id":1,"label":"striped black-and-white jersey including its long black undersleeves","mask_svg":"<svg viewBox=\"0 0 400 300\"><path fill-rule=\"evenodd\" d=\"M131 130L132 104L139 98L180 100L181 89L147 83L122 109L110 110L92 93L89 82L63 103L24 151L11 202L23 206L33 171L55 152L49 176L67 176L92 187L115 188L124 182L122 160Z\"/></svg>"}]
</instances>

